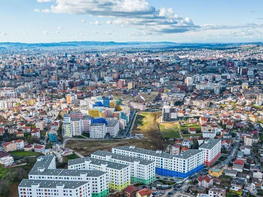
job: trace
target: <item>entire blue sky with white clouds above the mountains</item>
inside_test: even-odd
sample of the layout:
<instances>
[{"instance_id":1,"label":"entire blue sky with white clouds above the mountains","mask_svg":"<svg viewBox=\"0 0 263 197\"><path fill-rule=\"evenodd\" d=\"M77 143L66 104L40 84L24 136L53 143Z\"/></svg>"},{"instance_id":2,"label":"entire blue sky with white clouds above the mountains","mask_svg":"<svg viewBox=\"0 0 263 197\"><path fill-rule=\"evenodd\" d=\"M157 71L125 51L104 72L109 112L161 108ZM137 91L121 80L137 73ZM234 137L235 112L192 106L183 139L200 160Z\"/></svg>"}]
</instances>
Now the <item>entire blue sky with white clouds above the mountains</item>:
<instances>
[{"instance_id":1,"label":"entire blue sky with white clouds above the mountains","mask_svg":"<svg viewBox=\"0 0 263 197\"><path fill-rule=\"evenodd\" d=\"M0 42L263 42L262 0L0 1Z\"/></svg>"}]
</instances>

